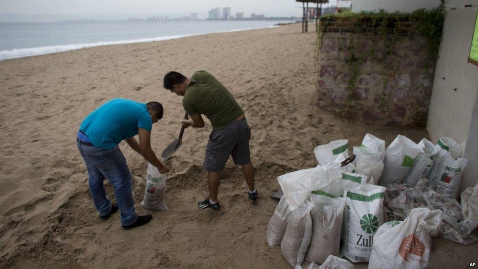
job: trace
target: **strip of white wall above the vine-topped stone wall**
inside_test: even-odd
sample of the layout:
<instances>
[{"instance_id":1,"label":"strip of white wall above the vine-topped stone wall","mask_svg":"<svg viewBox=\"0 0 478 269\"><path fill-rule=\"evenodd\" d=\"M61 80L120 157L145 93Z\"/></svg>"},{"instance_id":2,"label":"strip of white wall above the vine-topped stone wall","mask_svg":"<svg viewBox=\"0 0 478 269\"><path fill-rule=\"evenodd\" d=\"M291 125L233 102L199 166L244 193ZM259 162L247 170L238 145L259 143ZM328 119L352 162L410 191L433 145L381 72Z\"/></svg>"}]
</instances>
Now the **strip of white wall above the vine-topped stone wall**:
<instances>
[{"instance_id":1,"label":"strip of white wall above the vine-topped stone wall","mask_svg":"<svg viewBox=\"0 0 478 269\"><path fill-rule=\"evenodd\" d=\"M440 0L352 0L352 12L379 11L412 12L420 8L435 8Z\"/></svg>"}]
</instances>

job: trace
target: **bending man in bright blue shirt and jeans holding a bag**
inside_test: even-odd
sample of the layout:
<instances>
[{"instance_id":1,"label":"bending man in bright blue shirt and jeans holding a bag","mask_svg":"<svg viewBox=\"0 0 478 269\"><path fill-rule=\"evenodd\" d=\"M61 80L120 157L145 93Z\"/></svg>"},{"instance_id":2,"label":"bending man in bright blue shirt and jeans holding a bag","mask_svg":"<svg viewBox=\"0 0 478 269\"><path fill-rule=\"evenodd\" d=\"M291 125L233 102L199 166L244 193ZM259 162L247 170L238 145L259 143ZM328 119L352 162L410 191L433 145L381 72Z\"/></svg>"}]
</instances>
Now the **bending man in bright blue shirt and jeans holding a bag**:
<instances>
[{"instance_id":1,"label":"bending man in bright blue shirt and jeans holding a bag","mask_svg":"<svg viewBox=\"0 0 478 269\"><path fill-rule=\"evenodd\" d=\"M164 166L151 149L152 124L163 118L163 106L158 102L139 103L129 99L110 100L90 113L80 125L76 145L90 175L91 196L99 218L107 220L120 211L121 227L128 230L148 223L151 215L138 216L131 190L131 171L118 144L124 140L146 161L164 174ZM139 135L139 143L134 138ZM113 185L118 205L106 197L104 179Z\"/></svg>"}]
</instances>

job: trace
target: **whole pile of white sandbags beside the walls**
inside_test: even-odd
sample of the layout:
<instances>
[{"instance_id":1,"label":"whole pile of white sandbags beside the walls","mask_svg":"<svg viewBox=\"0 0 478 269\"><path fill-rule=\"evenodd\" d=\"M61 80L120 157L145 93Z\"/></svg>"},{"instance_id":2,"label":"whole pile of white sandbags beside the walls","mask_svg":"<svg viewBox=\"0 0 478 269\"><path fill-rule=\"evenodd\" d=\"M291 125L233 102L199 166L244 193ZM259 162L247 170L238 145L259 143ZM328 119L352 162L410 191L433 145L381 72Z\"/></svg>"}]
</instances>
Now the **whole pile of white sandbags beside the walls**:
<instances>
[{"instance_id":1,"label":"whole pile of white sandbags beside the walls","mask_svg":"<svg viewBox=\"0 0 478 269\"><path fill-rule=\"evenodd\" d=\"M349 261L370 260L370 268L424 268L430 236L464 245L478 240L471 234L478 226L478 184L462 193L461 205L454 200L467 165L458 143L415 144L399 135L385 149L383 140L366 134L353 147L355 160L341 167L348 146L345 139L320 145L317 167L277 178L284 196L267 243L281 245L291 267L305 260L309 268L353 268Z\"/></svg>"}]
</instances>

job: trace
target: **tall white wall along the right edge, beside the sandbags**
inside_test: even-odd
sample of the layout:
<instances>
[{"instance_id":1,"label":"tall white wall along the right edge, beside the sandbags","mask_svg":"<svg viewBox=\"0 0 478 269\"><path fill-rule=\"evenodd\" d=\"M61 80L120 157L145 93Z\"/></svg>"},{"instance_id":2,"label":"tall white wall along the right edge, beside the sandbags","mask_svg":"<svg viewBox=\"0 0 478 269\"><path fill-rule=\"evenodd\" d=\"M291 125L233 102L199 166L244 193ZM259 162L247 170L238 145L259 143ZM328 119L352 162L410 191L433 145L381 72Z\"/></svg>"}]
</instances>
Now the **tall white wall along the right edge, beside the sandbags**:
<instances>
[{"instance_id":1,"label":"tall white wall along the right edge, beside the sandbags","mask_svg":"<svg viewBox=\"0 0 478 269\"><path fill-rule=\"evenodd\" d=\"M473 6L465 7L468 4ZM465 147L463 156L469 164L462 189L478 181L478 66L468 63L477 8L478 0L446 2L427 124L433 142L446 136Z\"/></svg>"}]
</instances>

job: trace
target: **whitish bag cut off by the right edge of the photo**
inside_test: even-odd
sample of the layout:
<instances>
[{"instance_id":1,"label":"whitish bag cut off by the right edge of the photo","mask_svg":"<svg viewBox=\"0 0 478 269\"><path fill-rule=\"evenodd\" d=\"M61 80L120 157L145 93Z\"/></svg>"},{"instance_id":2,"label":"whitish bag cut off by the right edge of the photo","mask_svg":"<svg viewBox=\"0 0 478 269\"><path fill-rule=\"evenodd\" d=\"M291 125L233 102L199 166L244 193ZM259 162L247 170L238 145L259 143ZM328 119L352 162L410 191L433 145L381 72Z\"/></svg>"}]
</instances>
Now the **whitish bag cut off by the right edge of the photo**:
<instances>
[{"instance_id":1,"label":"whitish bag cut off by the right edge of the photo","mask_svg":"<svg viewBox=\"0 0 478 269\"><path fill-rule=\"evenodd\" d=\"M461 193L461 213L463 221L460 224L460 231L466 236L478 226L478 183Z\"/></svg>"}]
</instances>

